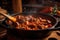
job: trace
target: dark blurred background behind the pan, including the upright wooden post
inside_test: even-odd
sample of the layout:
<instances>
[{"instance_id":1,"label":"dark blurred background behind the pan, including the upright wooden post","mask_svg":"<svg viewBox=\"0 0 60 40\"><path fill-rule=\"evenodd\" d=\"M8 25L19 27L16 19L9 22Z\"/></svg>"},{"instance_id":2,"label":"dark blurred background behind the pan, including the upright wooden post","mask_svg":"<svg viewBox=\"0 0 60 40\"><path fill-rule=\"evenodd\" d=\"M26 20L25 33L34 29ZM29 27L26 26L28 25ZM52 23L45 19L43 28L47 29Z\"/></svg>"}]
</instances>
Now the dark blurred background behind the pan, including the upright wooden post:
<instances>
[{"instance_id":1,"label":"dark blurred background behind the pan, including the upright wooden post","mask_svg":"<svg viewBox=\"0 0 60 40\"><path fill-rule=\"evenodd\" d=\"M60 7L60 0L0 0L0 6L10 13L39 12L55 4Z\"/></svg>"}]
</instances>

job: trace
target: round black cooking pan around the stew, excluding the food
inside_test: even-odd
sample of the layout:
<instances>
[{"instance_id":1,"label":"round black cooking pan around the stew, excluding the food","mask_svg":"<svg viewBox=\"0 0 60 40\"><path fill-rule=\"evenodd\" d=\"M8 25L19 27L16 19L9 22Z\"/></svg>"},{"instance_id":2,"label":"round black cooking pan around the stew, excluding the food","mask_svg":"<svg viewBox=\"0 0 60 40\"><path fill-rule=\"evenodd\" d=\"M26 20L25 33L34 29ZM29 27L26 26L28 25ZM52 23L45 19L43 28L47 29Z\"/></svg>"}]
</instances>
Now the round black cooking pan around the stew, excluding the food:
<instances>
[{"instance_id":1,"label":"round black cooking pan around the stew, excluding the food","mask_svg":"<svg viewBox=\"0 0 60 40\"><path fill-rule=\"evenodd\" d=\"M14 14L14 16L21 15L21 14ZM52 15L49 14L43 14L43 13L32 13L32 14L26 14L22 13L22 15L27 16L27 15L33 15L36 17L43 17L45 19L49 19L52 21L52 27L46 28L46 29L41 29L41 30L21 30L21 29L16 29L15 27L10 27L7 23L5 25L6 28L8 29L8 34L13 34L14 36L18 36L21 38L43 38L46 37L51 33L51 30L55 30L55 26L58 24L58 20L53 17ZM7 21L7 20L6 20ZM54 29L55 28L55 29Z\"/></svg>"}]
</instances>

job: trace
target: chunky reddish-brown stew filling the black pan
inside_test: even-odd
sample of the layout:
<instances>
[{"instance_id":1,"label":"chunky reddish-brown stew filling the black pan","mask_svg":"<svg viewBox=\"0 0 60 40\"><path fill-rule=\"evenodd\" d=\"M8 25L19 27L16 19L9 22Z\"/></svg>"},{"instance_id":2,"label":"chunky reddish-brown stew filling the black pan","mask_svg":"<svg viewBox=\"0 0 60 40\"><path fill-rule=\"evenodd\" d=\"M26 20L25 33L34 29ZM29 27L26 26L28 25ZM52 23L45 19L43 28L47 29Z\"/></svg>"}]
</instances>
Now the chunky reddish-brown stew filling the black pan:
<instances>
[{"instance_id":1,"label":"chunky reddish-brown stew filling the black pan","mask_svg":"<svg viewBox=\"0 0 60 40\"><path fill-rule=\"evenodd\" d=\"M49 19L45 19L42 17L35 17L32 15L24 16L18 15L14 16L18 22L16 25L17 29L24 29L24 30L40 30L52 27L52 22ZM9 25L13 25L12 21L8 20L7 23Z\"/></svg>"}]
</instances>

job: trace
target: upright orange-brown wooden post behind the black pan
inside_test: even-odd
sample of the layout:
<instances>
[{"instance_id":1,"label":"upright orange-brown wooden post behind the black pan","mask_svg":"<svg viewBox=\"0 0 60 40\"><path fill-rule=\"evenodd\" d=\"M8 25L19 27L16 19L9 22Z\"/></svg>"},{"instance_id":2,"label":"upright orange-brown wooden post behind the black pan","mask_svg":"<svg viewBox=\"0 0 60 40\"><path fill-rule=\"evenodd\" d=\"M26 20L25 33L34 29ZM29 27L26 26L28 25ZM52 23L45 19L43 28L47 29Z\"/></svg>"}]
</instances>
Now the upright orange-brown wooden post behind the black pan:
<instances>
[{"instance_id":1,"label":"upright orange-brown wooden post behind the black pan","mask_svg":"<svg viewBox=\"0 0 60 40\"><path fill-rule=\"evenodd\" d=\"M13 10L15 13L22 13L22 0L12 0Z\"/></svg>"}]
</instances>

